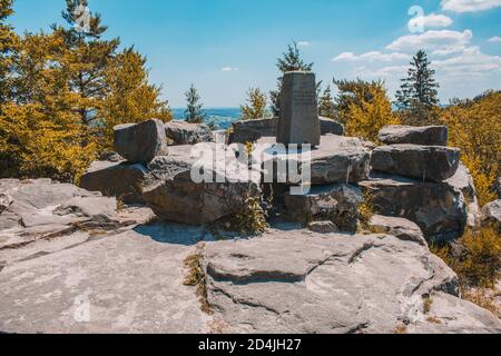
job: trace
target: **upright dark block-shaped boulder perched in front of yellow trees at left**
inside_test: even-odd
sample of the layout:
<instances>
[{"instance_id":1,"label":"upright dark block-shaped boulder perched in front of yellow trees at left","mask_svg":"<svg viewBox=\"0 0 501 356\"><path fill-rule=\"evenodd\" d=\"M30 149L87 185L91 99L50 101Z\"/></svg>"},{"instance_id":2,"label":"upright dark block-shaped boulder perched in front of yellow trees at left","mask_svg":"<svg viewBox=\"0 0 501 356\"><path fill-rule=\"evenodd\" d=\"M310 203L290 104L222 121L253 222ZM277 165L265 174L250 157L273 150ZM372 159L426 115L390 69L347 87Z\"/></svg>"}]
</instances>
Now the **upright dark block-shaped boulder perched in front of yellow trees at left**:
<instances>
[{"instance_id":1,"label":"upright dark block-shaped boulder perched in front of yellow trees at left","mask_svg":"<svg viewBox=\"0 0 501 356\"><path fill-rule=\"evenodd\" d=\"M115 127L115 150L131 164L149 164L168 154L165 126L160 120Z\"/></svg>"}]
</instances>

